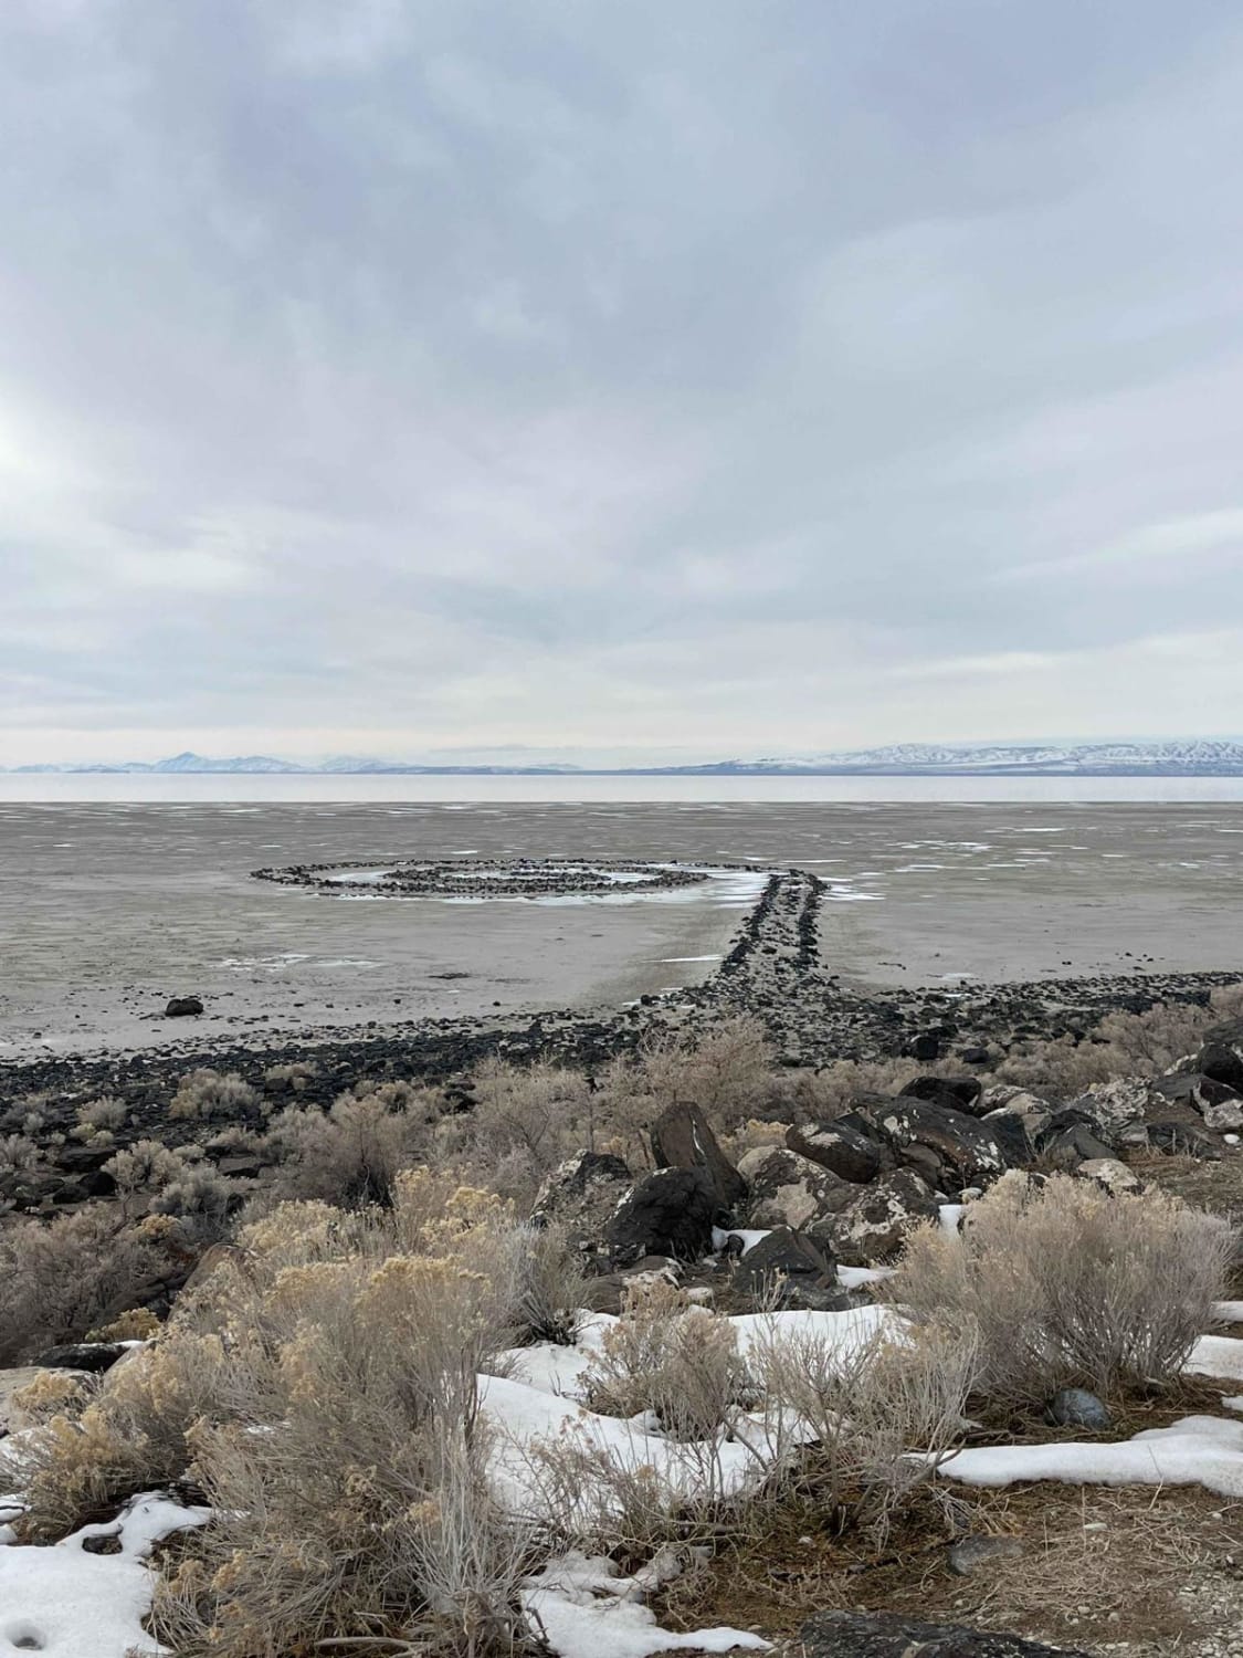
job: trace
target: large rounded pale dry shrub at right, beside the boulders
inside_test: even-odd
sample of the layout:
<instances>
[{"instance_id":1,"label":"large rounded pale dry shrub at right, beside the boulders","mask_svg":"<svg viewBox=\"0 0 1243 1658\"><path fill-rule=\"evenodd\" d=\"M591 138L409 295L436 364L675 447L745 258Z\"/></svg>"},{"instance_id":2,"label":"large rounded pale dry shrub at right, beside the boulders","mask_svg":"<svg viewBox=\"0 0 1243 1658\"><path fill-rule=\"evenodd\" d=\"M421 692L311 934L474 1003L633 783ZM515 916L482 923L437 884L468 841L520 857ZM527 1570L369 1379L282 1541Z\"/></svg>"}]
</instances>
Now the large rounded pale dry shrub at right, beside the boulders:
<instances>
[{"instance_id":1,"label":"large rounded pale dry shrub at right, beside the boulders","mask_svg":"<svg viewBox=\"0 0 1243 1658\"><path fill-rule=\"evenodd\" d=\"M1233 1248L1228 1222L1155 1189L1011 1177L958 1237L912 1232L883 1293L920 1325L973 1321L981 1396L1039 1404L1072 1384L1173 1379L1225 1297Z\"/></svg>"}]
</instances>

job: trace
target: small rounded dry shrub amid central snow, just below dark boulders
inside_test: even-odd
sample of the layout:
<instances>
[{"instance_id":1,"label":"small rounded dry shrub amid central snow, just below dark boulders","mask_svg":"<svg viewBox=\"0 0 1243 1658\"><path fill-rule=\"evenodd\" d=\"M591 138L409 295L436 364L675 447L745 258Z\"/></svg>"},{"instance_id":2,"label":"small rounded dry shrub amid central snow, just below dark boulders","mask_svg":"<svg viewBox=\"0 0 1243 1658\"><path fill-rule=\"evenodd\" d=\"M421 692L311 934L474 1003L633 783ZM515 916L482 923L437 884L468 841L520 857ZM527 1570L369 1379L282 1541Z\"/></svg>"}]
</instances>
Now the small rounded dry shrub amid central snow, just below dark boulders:
<instances>
[{"instance_id":1,"label":"small rounded dry shrub amid central snow, just below dark boulders","mask_svg":"<svg viewBox=\"0 0 1243 1658\"><path fill-rule=\"evenodd\" d=\"M651 1411L673 1439L714 1437L756 1394L734 1325L660 1282L631 1292L603 1331L583 1389L605 1416Z\"/></svg>"}]
</instances>

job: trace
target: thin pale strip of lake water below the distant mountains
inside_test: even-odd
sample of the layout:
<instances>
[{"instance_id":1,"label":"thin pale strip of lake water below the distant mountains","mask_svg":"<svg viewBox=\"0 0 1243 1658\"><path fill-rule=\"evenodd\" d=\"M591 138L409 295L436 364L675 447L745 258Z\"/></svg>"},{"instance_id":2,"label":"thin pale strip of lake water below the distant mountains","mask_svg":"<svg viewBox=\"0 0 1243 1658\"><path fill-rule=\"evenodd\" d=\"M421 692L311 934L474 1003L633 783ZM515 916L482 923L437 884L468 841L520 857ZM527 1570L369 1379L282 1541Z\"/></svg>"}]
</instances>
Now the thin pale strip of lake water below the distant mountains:
<instances>
[{"instance_id":1,"label":"thin pale strip of lake water below the distant mountains","mask_svg":"<svg viewBox=\"0 0 1243 1658\"><path fill-rule=\"evenodd\" d=\"M496 778L496 776L225 776L3 774L2 801L297 802L578 802L670 801L694 806L781 802L918 804L1243 801L1243 778Z\"/></svg>"}]
</instances>

